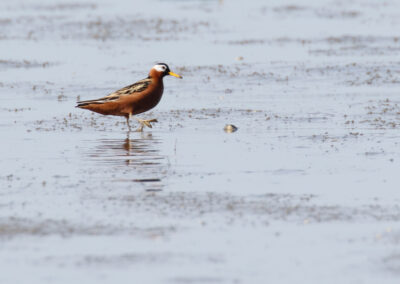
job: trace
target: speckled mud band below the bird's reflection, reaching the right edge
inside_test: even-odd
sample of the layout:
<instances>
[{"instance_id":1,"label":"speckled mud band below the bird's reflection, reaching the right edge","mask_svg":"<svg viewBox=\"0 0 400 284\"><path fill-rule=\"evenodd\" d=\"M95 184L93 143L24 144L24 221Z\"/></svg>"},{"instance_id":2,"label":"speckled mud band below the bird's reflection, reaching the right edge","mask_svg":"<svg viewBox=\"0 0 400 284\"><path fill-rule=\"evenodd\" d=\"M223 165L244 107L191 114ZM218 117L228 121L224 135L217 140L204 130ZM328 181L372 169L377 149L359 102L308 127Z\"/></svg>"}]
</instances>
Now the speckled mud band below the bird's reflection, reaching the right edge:
<instances>
[{"instance_id":1,"label":"speckled mud band below the bird's reflection, reaching the right edge","mask_svg":"<svg viewBox=\"0 0 400 284\"><path fill-rule=\"evenodd\" d=\"M256 215L264 224L283 220L306 223L395 221L400 218L400 207L367 204L360 207L340 205L316 205L313 195L264 194L257 196L234 196L217 193L155 193L153 195L109 196L108 200L118 206L133 210L152 212L170 218L199 218L223 216L227 223L246 220ZM208 219L210 220L210 219ZM253 219L254 220L254 219Z\"/></svg>"}]
</instances>

